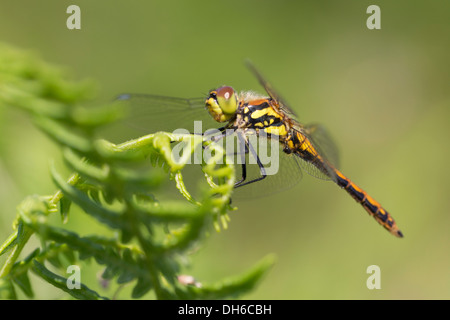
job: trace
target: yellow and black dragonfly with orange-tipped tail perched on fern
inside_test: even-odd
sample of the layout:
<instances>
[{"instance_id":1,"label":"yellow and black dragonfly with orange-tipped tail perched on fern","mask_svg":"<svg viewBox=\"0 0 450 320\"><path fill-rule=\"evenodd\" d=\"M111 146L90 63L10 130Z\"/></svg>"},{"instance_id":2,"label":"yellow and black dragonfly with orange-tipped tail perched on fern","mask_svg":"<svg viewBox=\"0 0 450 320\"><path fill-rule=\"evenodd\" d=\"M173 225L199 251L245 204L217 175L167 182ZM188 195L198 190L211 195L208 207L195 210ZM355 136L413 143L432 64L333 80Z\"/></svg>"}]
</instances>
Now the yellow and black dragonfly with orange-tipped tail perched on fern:
<instances>
[{"instance_id":1,"label":"yellow and black dragonfly with orange-tipped tail perched on fern","mask_svg":"<svg viewBox=\"0 0 450 320\"><path fill-rule=\"evenodd\" d=\"M300 164L300 166L290 166L289 169L284 168L287 172L285 177L289 177L291 181L299 180L301 169L303 169L314 177L333 181L392 235L403 237L403 233L399 230L391 214L338 170L337 148L327 131L320 125L301 124L297 120L296 113L284 102L284 99L265 80L256 67L249 61L246 61L246 65L265 89L267 95L260 95L253 91L238 93L231 86L221 86L210 90L206 98L184 99L148 94L122 94L118 99L128 101L132 105L141 105L139 110L151 108L153 120L158 119L158 115L170 113L173 116L170 120L173 125L178 121L187 122L186 114L190 114L190 118L193 119L204 119L203 115L206 109L212 120L208 124L216 123L216 126L217 123L224 124L218 128L221 132L219 138L229 135L230 132L237 133L244 145L244 152L252 154L256 159L259 176L249 178L247 163L244 160L241 163L241 176L237 179L235 188L260 183L268 178L266 168L259 160L255 148L250 143L249 136L256 134L276 139L283 157L290 159L291 163ZM182 110L189 112L183 113ZM148 110L145 112L148 113ZM141 118L142 121L145 121L145 117L135 115L134 118ZM162 121L153 122L162 123ZM213 139L217 140L218 138L215 136Z\"/></svg>"}]
</instances>

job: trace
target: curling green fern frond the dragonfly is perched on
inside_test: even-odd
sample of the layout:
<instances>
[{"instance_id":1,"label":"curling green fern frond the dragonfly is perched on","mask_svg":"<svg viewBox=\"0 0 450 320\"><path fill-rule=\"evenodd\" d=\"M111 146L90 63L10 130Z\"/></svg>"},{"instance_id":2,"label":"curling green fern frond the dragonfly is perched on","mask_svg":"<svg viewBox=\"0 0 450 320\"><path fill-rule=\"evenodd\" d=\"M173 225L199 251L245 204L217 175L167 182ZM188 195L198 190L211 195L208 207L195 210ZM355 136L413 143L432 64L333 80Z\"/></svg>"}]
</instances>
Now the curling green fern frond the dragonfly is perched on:
<instances>
[{"instance_id":1,"label":"curling green fern frond the dragonfly is perched on","mask_svg":"<svg viewBox=\"0 0 450 320\"><path fill-rule=\"evenodd\" d=\"M208 145L214 157L201 166L209 188L195 199L183 172L202 139L158 132L122 144L99 140L97 129L120 118L120 105L88 108L84 104L93 97L92 84L63 79L57 68L0 45L0 104L28 113L60 146L74 172L63 177L52 164L51 177L59 190L29 196L18 206L13 233L0 246L0 255L7 255L0 270L0 296L17 298L15 288L19 288L33 297L31 271L76 299L104 299L85 284L79 289L67 286L68 278L61 274L82 260L103 266L103 279L132 284L132 298L153 290L158 299L221 299L251 290L273 264L272 258L216 284L192 287L178 278L189 249L204 241L213 226L226 227L227 214L233 209L234 167L223 161L224 150L215 143ZM173 157L173 145L178 142L188 146L181 159ZM164 164L166 174L156 170L158 163ZM157 199L156 191L167 180L186 201ZM118 236L82 236L51 222L55 214L67 222L74 207ZM31 235L40 238L41 246L19 259Z\"/></svg>"}]
</instances>

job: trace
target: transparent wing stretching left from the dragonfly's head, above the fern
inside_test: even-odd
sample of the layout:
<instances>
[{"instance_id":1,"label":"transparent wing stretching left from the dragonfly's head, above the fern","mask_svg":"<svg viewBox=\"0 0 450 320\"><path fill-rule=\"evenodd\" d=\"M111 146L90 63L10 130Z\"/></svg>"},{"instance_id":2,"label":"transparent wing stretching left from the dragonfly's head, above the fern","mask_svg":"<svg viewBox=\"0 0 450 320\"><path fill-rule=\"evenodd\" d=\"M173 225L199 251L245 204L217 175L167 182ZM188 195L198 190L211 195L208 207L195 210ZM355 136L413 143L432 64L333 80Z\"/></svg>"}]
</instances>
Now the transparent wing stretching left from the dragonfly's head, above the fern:
<instances>
[{"instance_id":1,"label":"transparent wing stretching left from the dragonfly's head, above the fern","mask_svg":"<svg viewBox=\"0 0 450 320\"><path fill-rule=\"evenodd\" d=\"M148 94L122 94L117 98L123 102L126 116L106 128L101 134L113 142L125 141L157 131L173 132L186 129L189 132L204 132L217 128L205 109L205 98L183 99ZM201 127L194 127L201 121Z\"/></svg>"}]
</instances>

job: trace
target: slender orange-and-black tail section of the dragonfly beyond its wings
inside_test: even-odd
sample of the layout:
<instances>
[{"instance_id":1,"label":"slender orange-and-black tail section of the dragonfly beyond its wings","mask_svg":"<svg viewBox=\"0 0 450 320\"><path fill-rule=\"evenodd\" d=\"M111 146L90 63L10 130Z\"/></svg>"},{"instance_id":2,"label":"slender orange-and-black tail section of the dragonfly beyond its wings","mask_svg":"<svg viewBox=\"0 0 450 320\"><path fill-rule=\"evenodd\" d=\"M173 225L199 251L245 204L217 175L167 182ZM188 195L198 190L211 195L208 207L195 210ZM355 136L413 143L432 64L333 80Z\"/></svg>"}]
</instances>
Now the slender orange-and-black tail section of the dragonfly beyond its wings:
<instances>
[{"instance_id":1,"label":"slender orange-and-black tail section of the dragonfly beyond its wings","mask_svg":"<svg viewBox=\"0 0 450 320\"><path fill-rule=\"evenodd\" d=\"M338 170L336 170L336 183L341 188L344 188L353 199L366 209L369 215L373 216L390 233L397 237L403 237L402 232L398 229L397 224L389 212Z\"/></svg>"}]
</instances>

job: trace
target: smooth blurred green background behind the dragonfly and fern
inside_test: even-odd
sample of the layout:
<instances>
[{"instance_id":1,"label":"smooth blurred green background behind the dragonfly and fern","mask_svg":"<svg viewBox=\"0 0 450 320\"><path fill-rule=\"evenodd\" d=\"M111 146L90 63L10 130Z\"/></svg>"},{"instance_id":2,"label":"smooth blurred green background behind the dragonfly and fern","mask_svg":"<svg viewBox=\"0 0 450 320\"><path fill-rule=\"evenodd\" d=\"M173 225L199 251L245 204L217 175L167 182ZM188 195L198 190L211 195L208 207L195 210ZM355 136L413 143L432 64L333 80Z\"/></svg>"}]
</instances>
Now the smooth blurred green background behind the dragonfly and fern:
<instances>
[{"instance_id":1,"label":"smooth blurred green background behind the dragonfly and fern","mask_svg":"<svg viewBox=\"0 0 450 320\"><path fill-rule=\"evenodd\" d=\"M71 4L81 30L66 28ZM366 27L371 4L381 30ZM275 267L245 298L449 299L449 13L438 0L2 1L0 41L93 79L99 102L122 92L196 97L223 84L261 90L244 67L250 58L301 122L329 128L342 172L405 238L305 174L286 192L236 202L229 229L211 234L186 272L214 282L274 253ZM2 107L0 156L3 241L26 195L55 191L48 161L60 154L21 112ZM81 213L72 220L97 232ZM373 264L380 290L366 287ZM96 289L95 274L82 281ZM60 296L48 284L37 295Z\"/></svg>"}]
</instances>

